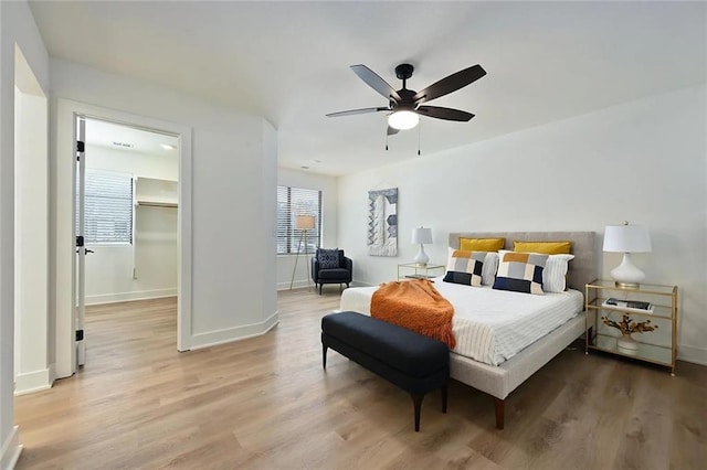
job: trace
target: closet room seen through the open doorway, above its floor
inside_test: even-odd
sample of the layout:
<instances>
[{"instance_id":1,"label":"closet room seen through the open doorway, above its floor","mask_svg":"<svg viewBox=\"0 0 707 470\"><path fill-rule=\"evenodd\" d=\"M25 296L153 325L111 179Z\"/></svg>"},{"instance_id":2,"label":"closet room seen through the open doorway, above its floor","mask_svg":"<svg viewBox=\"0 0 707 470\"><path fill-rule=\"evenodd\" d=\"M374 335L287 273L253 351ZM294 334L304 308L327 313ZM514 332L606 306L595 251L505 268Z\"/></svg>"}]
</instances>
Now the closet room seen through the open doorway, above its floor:
<instances>
[{"instance_id":1,"label":"closet room seen through the open doorway, above its floor","mask_svg":"<svg viewBox=\"0 0 707 470\"><path fill-rule=\"evenodd\" d=\"M85 308L178 297L179 138L78 116L77 365ZM81 137L83 133L83 137ZM83 222L83 225L81 222Z\"/></svg>"}]
</instances>

